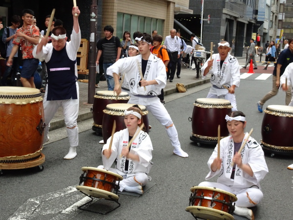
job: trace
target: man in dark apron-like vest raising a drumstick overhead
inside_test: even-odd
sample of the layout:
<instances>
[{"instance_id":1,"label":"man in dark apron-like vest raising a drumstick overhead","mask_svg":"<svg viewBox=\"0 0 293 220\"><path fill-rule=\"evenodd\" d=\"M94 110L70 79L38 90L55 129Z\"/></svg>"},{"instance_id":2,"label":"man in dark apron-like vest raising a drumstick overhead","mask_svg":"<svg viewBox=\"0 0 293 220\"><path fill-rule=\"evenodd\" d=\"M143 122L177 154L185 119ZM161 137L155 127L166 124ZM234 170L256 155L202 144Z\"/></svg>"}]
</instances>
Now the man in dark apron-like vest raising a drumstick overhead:
<instances>
[{"instance_id":1,"label":"man in dark apron-like vest raising a drumstick overhead","mask_svg":"<svg viewBox=\"0 0 293 220\"><path fill-rule=\"evenodd\" d=\"M70 145L69 152L63 157L64 159L73 159L76 156L76 147L78 146L79 86L77 83L76 53L81 44L79 15L78 7L73 7L73 30L70 42L66 42L65 28L58 26L52 30L52 43L48 44L48 39L44 37L33 52L34 57L44 58L48 67L48 83L43 101L46 124L43 143L49 140L50 121L59 107L62 106Z\"/></svg>"}]
</instances>

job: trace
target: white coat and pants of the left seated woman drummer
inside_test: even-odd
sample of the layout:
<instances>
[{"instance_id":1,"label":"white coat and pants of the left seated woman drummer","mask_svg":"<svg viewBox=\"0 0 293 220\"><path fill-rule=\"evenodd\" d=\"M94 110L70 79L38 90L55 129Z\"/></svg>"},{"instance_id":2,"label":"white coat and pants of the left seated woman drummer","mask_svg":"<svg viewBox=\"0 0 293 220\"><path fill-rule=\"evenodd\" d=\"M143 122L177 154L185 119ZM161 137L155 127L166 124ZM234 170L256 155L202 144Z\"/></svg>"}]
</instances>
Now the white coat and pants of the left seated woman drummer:
<instances>
[{"instance_id":1,"label":"white coat and pants of the left seated woman drummer","mask_svg":"<svg viewBox=\"0 0 293 220\"><path fill-rule=\"evenodd\" d=\"M137 131L139 127L137 127ZM136 132L137 132L136 131ZM123 191L126 186L145 186L148 181L147 174L151 168L152 159L152 144L151 140L146 132L140 131L136 138L132 141L130 146L131 154L137 154L139 156L139 161L128 160L128 167L126 169L126 157L121 156L122 149L126 148L129 142L129 132L128 129L124 129L120 132L116 132L113 136L112 142L112 154L107 159L103 155L103 151L109 148L111 137L107 140L102 150L103 165L99 168L104 168L116 174L123 176L123 180L120 181L119 191ZM113 162L117 160L116 168L110 168Z\"/></svg>"}]
</instances>

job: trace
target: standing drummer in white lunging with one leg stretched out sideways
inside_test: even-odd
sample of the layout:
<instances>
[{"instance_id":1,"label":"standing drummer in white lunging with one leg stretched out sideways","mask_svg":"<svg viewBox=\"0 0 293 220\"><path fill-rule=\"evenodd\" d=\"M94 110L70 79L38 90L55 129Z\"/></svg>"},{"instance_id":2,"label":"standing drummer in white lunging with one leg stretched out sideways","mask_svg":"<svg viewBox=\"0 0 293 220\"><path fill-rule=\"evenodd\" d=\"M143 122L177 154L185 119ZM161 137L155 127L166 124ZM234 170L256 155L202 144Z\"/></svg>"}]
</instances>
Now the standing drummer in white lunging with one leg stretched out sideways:
<instances>
[{"instance_id":1,"label":"standing drummer in white lunging with one leg stretched out sideways","mask_svg":"<svg viewBox=\"0 0 293 220\"><path fill-rule=\"evenodd\" d=\"M188 157L188 154L181 149L178 133L169 113L157 97L161 89L166 86L166 66L161 59L150 52L153 43L151 35L144 33L135 38L135 41L137 41L141 54L135 57L120 59L107 69L107 74L113 76L115 80L114 91L117 94L121 93L118 74L119 72L126 72L127 78L133 79L132 86L129 87L131 97L128 103L146 106L146 109L165 126L167 135L174 148L173 153L181 157ZM140 66L143 79L139 74Z\"/></svg>"}]
</instances>

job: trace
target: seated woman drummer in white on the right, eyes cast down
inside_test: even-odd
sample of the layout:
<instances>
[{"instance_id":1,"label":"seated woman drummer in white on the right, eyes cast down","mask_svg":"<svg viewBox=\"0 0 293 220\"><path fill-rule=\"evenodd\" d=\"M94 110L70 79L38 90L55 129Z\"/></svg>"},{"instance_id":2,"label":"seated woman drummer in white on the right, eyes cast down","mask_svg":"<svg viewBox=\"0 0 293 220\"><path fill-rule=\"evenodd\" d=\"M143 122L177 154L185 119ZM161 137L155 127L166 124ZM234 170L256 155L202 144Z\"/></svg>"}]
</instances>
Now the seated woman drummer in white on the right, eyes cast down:
<instances>
[{"instance_id":1,"label":"seated woman drummer in white on the right, eyes cast down","mask_svg":"<svg viewBox=\"0 0 293 220\"><path fill-rule=\"evenodd\" d=\"M267 175L268 167L261 146L249 137L241 154L238 151L249 136L244 132L246 127L245 114L232 111L225 117L228 137L220 141L220 157L218 146L209 157L209 174L206 179L216 175L217 182L202 182L199 186L216 187L233 193L237 197L234 214L254 220L253 212L248 207L256 206L263 198L259 182ZM234 163L231 166L231 163Z\"/></svg>"}]
</instances>

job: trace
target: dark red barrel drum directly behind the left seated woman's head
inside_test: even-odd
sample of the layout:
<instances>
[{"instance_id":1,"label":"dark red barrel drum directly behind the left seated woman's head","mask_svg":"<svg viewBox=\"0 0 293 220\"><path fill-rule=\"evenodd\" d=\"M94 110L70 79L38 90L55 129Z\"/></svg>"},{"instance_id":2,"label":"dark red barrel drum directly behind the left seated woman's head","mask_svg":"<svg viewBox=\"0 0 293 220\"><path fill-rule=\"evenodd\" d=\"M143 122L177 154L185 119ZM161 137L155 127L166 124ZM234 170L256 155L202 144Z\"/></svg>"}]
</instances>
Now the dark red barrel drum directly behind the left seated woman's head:
<instances>
[{"instance_id":1,"label":"dark red barrel drum directly behind the left seated woman's head","mask_svg":"<svg viewBox=\"0 0 293 220\"><path fill-rule=\"evenodd\" d=\"M106 109L104 110L104 117L103 117L103 140L104 143L107 142L107 139L112 134L113 129L113 123L114 120L116 120L116 131L119 132L123 129L126 129L125 123L124 123L124 111L127 110L129 107L134 106L134 104L128 104L128 103L118 103L118 104L109 104L106 106ZM148 111L146 110L146 107L143 105L138 105L139 108L143 112L143 122L145 124L145 130L146 133L148 133Z\"/></svg>"}]
</instances>

